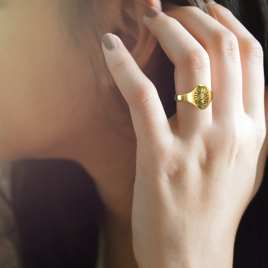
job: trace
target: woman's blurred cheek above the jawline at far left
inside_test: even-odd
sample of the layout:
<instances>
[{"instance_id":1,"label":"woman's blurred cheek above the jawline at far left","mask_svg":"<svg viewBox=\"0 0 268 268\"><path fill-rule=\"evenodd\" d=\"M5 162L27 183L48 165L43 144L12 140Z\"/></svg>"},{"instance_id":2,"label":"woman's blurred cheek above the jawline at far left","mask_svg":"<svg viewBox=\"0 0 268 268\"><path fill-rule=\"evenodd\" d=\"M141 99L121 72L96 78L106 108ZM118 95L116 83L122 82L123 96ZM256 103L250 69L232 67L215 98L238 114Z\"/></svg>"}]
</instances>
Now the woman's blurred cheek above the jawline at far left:
<instances>
[{"instance_id":1,"label":"woman's blurred cheek above the jawline at far left","mask_svg":"<svg viewBox=\"0 0 268 268\"><path fill-rule=\"evenodd\" d=\"M66 69L46 55L38 66L28 61L23 69L0 69L5 74L0 82L0 158L39 154L83 132L92 120L96 100L88 72L75 73L78 67Z\"/></svg>"}]
</instances>

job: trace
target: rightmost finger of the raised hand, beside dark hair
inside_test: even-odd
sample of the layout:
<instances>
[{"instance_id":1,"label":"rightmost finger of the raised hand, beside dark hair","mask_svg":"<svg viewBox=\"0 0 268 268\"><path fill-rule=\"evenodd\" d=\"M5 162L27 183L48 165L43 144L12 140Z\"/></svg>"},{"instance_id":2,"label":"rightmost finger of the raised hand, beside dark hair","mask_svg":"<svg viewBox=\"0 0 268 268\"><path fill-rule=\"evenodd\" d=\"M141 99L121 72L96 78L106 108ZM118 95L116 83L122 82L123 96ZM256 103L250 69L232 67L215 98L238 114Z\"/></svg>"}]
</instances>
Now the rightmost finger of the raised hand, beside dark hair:
<instances>
[{"instance_id":1,"label":"rightmost finger of the raised hand, beside dark hair","mask_svg":"<svg viewBox=\"0 0 268 268\"><path fill-rule=\"evenodd\" d=\"M245 112L256 119L263 117L265 75L264 52L261 44L229 9L220 4L206 6L209 14L233 32L238 39Z\"/></svg>"}]
</instances>

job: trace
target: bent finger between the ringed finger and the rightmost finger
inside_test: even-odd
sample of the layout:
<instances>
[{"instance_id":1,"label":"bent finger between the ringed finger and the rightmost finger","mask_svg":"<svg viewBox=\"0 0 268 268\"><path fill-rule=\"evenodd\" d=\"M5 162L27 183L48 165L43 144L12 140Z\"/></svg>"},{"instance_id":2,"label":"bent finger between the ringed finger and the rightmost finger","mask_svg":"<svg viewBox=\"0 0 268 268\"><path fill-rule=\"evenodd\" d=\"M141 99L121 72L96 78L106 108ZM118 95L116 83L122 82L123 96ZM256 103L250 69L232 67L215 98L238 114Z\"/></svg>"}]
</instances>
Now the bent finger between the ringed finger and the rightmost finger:
<instances>
[{"instance_id":1,"label":"bent finger between the ringed finger and the rightmost finger","mask_svg":"<svg viewBox=\"0 0 268 268\"><path fill-rule=\"evenodd\" d=\"M242 69L236 36L197 6L178 6L172 14L209 55L213 121L229 124L230 120L239 120L244 114L244 107Z\"/></svg>"}]
</instances>

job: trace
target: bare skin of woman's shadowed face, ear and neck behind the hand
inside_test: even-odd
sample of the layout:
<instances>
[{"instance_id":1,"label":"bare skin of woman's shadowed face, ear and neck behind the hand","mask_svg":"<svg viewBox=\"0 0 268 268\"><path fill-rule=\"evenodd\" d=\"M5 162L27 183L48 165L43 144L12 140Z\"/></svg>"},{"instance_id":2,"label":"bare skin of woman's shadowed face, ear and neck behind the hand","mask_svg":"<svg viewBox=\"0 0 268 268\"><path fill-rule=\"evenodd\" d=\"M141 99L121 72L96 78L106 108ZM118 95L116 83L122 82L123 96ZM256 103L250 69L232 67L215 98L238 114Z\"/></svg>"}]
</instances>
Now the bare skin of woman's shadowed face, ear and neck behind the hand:
<instances>
[{"instance_id":1,"label":"bare skin of woman's shadowed face, ear and neck behind the hand","mask_svg":"<svg viewBox=\"0 0 268 268\"><path fill-rule=\"evenodd\" d=\"M83 165L94 178L105 205L107 267L137 267L131 233L136 137L124 98L118 97L125 110L118 105L119 99L111 98L118 88L113 83L111 91L107 82L101 39L105 33L118 29L123 42L132 36L131 42L124 43L138 66L150 69L146 75L156 80L159 66L147 63L157 40L143 24L142 16L147 6L160 8L160 1L116 0L105 9L100 1L94 2L94 10L99 10L97 16L106 27L96 29L99 41L93 41L90 27L86 28L86 35L81 34L86 36L83 41L94 68L100 70L98 75L69 41L55 1L4 2L0 13L0 158L67 158ZM129 24L121 19L122 9L137 21L138 35L131 28L130 18ZM164 66L165 63L162 71ZM166 77L173 77L173 73ZM99 95L103 104L96 101ZM267 93L265 99L268 115ZM107 110L112 111L114 126L107 123ZM258 163L256 191L267 154L266 137Z\"/></svg>"}]
</instances>

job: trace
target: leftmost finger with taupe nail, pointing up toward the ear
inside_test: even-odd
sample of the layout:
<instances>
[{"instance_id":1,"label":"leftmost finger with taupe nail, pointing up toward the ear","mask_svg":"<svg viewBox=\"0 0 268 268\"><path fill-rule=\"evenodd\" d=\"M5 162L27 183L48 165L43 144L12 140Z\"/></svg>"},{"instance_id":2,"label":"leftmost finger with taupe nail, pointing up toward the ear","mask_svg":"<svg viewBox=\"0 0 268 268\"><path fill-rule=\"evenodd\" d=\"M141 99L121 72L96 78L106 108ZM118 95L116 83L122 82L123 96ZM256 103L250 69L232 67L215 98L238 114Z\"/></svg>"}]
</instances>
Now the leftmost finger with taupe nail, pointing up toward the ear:
<instances>
[{"instance_id":1,"label":"leftmost finger with taupe nail, pointing up toward the ear","mask_svg":"<svg viewBox=\"0 0 268 268\"><path fill-rule=\"evenodd\" d=\"M114 49L113 45L116 46ZM118 36L104 35L102 49L107 66L129 104L137 141L146 145L150 141L163 140L170 133L170 126L153 83L137 66Z\"/></svg>"}]
</instances>

